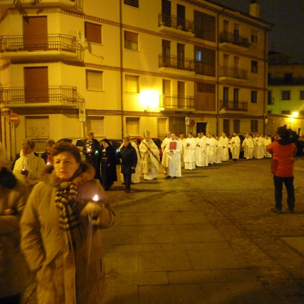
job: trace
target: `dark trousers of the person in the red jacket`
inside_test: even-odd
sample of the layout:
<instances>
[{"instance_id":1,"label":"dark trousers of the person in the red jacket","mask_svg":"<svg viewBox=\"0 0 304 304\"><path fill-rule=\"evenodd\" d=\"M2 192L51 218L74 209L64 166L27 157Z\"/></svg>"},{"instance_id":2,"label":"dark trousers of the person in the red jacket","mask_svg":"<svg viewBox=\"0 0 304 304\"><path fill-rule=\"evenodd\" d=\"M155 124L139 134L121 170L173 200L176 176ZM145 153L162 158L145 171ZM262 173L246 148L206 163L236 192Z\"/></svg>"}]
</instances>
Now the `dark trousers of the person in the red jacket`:
<instances>
[{"instance_id":1,"label":"dark trousers of the person in the red jacket","mask_svg":"<svg viewBox=\"0 0 304 304\"><path fill-rule=\"evenodd\" d=\"M289 210L294 209L294 187L293 187L293 176L290 177L279 177L274 175L275 182L275 201L276 201L276 209L282 209L282 191L283 191L283 183L285 184L287 191L287 205Z\"/></svg>"}]
</instances>

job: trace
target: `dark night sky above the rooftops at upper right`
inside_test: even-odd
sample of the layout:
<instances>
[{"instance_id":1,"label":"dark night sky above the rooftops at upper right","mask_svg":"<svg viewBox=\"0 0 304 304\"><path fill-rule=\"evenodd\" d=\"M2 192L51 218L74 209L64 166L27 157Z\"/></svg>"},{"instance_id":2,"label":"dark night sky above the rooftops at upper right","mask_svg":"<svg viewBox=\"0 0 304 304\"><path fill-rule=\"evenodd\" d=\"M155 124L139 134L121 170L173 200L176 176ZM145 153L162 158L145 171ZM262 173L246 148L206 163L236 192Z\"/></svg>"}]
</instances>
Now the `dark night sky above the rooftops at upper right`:
<instances>
[{"instance_id":1,"label":"dark night sky above the rooftops at upper right","mask_svg":"<svg viewBox=\"0 0 304 304\"><path fill-rule=\"evenodd\" d=\"M249 14L250 0L214 0ZM269 33L269 50L290 57L290 63L304 63L304 0L257 0L260 19L275 24Z\"/></svg>"}]
</instances>

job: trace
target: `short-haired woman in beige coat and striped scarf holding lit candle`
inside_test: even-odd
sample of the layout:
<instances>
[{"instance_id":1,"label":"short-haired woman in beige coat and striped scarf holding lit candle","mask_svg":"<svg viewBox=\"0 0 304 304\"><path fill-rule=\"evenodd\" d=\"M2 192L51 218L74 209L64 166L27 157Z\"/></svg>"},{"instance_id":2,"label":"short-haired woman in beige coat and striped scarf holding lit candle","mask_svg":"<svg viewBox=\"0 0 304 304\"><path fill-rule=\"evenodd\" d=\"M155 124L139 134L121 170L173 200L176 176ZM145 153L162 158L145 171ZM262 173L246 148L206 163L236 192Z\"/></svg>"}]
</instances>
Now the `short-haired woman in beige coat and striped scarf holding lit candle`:
<instances>
[{"instance_id":1,"label":"short-haired woman in beige coat and striped scarf holding lit candle","mask_svg":"<svg viewBox=\"0 0 304 304\"><path fill-rule=\"evenodd\" d=\"M115 214L76 146L58 142L52 157L20 221L21 249L36 274L37 303L100 303L105 279L98 229L111 226Z\"/></svg>"}]
</instances>

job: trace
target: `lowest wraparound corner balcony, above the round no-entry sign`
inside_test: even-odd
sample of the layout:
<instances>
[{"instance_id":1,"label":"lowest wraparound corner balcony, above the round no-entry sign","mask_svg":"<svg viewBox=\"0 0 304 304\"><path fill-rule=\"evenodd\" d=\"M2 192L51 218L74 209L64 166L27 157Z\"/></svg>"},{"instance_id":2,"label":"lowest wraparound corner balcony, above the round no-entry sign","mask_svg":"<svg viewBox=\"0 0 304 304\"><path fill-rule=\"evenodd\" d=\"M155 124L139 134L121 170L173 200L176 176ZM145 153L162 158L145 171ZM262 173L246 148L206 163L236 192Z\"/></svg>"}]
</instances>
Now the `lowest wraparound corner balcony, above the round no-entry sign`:
<instances>
[{"instance_id":1,"label":"lowest wraparound corner balcony, above the round no-entry sign","mask_svg":"<svg viewBox=\"0 0 304 304\"><path fill-rule=\"evenodd\" d=\"M74 107L85 102L76 87L51 86L25 89L24 87L1 88L0 107Z\"/></svg>"}]
</instances>

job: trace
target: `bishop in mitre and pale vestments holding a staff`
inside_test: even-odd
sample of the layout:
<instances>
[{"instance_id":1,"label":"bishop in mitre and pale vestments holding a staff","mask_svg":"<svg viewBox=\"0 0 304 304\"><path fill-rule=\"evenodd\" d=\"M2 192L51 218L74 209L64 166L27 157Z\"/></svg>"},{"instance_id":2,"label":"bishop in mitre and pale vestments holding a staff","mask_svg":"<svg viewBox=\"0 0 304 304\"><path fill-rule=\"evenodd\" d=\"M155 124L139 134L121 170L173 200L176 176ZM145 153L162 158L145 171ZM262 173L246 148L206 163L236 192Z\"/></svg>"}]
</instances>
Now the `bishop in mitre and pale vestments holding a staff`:
<instances>
[{"instance_id":1,"label":"bishop in mitre and pale vestments holding a staff","mask_svg":"<svg viewBox=\"0 0 304 304\"><path fill-rule=\"evenodd\" d=\"M158 146L150 139L150 132L143 132L144 139L139 145L141 154L142 171L144 180L153 180L158 177L160 150Z\"/></svg>"}]
</instances>

